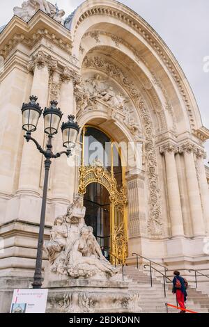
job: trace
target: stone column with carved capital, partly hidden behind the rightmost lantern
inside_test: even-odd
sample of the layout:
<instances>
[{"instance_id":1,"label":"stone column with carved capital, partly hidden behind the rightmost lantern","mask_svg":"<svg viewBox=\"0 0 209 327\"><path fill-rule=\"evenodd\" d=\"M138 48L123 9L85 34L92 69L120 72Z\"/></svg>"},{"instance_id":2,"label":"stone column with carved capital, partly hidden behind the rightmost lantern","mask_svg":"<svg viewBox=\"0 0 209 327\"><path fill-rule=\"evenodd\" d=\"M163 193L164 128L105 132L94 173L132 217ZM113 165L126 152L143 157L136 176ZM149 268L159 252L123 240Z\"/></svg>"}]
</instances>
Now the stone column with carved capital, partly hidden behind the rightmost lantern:
<instances>
[{"instance_id":1,"label":"stone column with carved capital, partly hidden behind the rightmost lantern","mask_svg":"<svg viewBox=\"0 0 209 327\"><path fill-rule=\"evenodd\" d=\"M61 92L59 107L63 112L63 121L68 120L68 115L72 115L74 111L74 82L73 72L65 67L61 74ZM56 149L59 152L62 149L62 134L59 131L56 134ZM52 178L52 197L54 200L72 202L73 193L75 192L75 156L69 159L62 155L53 163Z\"/></svg>"}]
</instances>

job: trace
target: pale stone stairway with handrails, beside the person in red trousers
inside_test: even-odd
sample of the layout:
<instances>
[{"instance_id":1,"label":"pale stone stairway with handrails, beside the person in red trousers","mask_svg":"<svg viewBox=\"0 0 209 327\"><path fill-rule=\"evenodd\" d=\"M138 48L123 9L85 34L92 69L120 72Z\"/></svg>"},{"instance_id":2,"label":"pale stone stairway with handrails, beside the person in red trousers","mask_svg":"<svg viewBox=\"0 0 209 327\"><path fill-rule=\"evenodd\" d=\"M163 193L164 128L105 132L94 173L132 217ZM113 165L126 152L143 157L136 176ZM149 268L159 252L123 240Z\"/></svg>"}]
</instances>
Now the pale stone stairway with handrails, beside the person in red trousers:
<instances>
[{"instance_id":1,"label":"pale stone stairway with handrails, beside the person in red trousers","mask_svg":"<svg viewBox=\"0 0 209 327\"><path fill-rule=\"evenodd\" d=\"M164 286L162 278L153 276L153 287L150 287L149 272L140 271L134 266L124 267L125 280L130 281L130 291L139 292L141 295L140 303L143 313L166 313L165 303L176 305L176 296L172 294L172 285L166 285L167 297L164 297ZM209 312L209 296L194 287L187 289L188 310L198 313ZM169 308L169 313L178 313L179 310Z\"/></svg>"}]
</instances>

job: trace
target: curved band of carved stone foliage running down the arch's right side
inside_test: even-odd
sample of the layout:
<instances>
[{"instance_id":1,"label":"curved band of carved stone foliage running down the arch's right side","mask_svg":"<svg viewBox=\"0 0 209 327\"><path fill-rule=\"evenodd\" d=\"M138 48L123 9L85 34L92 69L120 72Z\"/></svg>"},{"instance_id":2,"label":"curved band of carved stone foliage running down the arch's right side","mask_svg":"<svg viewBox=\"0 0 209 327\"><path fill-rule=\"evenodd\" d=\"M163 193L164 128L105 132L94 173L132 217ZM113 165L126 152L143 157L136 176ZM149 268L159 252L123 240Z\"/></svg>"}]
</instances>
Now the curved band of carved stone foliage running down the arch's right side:
<instances>
[{"instance_id":1,"label":"curved band of carved stone foliage running down the arch's right side","mask_svg":"<svg viewBox=\"0 0 209 327\"><path fill-rule=\"evenodd\" d=\"M83 63L84 68L93 68L101 70L125 88L132 101L137 107L137 111L143 122L144 134L146 138L146 168L148 175L149 189L149 215L147 229L152 237L162 236L162 210L160 206L160 189L157 179L157 159L155 154L155 136L153 134L153 122L150 118L148 109L144 106L141 95L134 86L134 83L111 62L108 62L98 56L86 57Z\"/></svg>"}]
</instances>

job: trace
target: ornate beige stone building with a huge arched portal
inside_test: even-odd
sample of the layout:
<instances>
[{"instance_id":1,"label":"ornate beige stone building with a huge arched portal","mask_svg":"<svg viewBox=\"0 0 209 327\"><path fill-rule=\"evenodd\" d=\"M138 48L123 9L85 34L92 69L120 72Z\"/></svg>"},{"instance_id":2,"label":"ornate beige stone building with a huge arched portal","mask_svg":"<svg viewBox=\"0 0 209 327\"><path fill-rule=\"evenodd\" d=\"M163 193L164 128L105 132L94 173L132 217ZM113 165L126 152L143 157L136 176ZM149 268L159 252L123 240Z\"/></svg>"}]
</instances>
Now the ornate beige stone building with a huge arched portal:
<instances>
[{"instance_id":1,"label":"ornate beige stone building with a huge arched portal","mask_svg":"<svg viewBox=\"0 0 209 327\"><path fill-rule=\"evenodd\" d=\"M35 10L30 2L0 34L1 287L9 280L27 287L35 266L44 172L42 155L23 138L20 108L30 95L42 108L56 99L63 119L74 114L82 127L81 163L52 163L46 239L79 192L101 246L128 263L139 253L171 269L205 268L209 131L176 58L144 19L116 1L87 0L65 22L62 10ZM44 145L42 121L34 137ZM107 168L100 158L85 164L91 138L111 143ZM114 142L133 145L128 160ZM61 131L53 145L61 150Z\"/></svg>"}]
</instances>

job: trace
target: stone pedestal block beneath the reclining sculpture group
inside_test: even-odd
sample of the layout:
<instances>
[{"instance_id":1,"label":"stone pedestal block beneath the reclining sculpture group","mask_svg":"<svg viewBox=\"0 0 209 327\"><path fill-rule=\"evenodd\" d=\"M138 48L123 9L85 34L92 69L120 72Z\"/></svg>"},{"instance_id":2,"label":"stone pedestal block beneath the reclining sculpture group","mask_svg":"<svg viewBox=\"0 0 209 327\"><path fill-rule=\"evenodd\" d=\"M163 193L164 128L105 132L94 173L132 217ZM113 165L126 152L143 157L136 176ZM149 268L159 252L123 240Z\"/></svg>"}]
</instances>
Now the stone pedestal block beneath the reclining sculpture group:
<instances>
[{"instance_id":1,"label":"stone pedestal block beneath the reclining sculpture group","mask_svg":"<svg viewBox=\"0 0 209 327\"><path fill-rule=\"evenodd\" d=\"M119 279L119 278L118 278ZM141 312L129 282L68 279L48 282L47 313Z\"/></svg>"}]
</instances>

